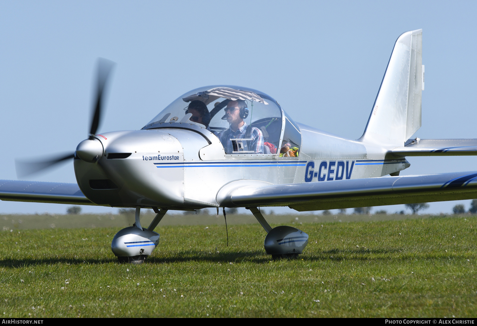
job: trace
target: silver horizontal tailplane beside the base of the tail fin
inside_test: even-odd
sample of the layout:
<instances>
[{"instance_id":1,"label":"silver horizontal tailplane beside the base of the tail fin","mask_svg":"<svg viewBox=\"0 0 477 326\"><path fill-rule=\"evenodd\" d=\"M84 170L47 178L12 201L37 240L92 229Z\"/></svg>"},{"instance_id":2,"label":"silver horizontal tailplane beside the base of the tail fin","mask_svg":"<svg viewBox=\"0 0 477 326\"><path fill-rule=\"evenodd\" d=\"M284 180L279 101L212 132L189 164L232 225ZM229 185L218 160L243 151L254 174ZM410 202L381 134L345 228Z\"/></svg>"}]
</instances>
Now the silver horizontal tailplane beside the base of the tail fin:
<instances>
[{"instance_id":1,"label":"silver horizontal tailplane beside the base of the tail fin","mask_svg":"<svg viewBox=\"0 0 477 326\"><path fill-rule=\"evenodd\" d=\"M413 139L391 151L397 156L477 155L477 139Z\"/></svg>"}]
</instances>

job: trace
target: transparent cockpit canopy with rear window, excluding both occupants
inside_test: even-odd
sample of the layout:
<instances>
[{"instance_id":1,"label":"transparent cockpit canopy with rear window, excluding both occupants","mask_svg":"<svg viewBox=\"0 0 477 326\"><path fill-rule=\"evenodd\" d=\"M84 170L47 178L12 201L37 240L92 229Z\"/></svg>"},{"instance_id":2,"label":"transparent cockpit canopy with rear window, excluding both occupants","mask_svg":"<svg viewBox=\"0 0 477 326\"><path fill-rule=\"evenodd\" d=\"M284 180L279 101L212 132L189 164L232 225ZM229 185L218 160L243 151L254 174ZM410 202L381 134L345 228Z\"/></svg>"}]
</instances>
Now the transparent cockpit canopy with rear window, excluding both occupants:
<instances>
[{"instance_id":1,"label":"transparent cockpit canopy with rear window, excluding both occupants","mask_svg":"<svg viewBox=\"0 0 477 326\"><path fill-rule=\"evenodd\" d=\"M254 131L255 134L259 133L263 136L264 152L260 154L275 154L274 156L277 157L290 157L291 153L292 157L298 156L298 149L301 148L301 132L298 125L293 122L290 116L282 110L280 104L272 97L263 92L246 87L216 85L200 87L189 91L169 104L164 110L157 114L154 119L148 122L143 129L170 128L171 124L177 127L179 123L181 128L188 129L191 125L195 124L201 127L199 130L203 130L204 127L207 128L209 131L207 132L207 137L214 137L213 135L215 135L222 136L223 138L223 133L228 130L230 124L227 122L226 115L223 114L224 111L222 110L226 108L228 102L237 100L242 100L247 103L249 114L243 119L244 122L251 127L258 128L259 131ZM207 106L207 110L210 112L208 125L191 120L192 114L187 111L187 108L189 103L193 101L201 101ZM220 132L222 132L222 134L220 134ZM247 139L245 137L241 138L242 139L230 139L233 144L233 149L226 149L226 154L246 154L240 151L243 152L244 147L247 149L247 145L242 144L247 142ZM280 153L280 149L282 149L282 152L284 151L284 146L290 148L289 153ZM224 144L224 148L225 147ZM228 151L233 152L228 153ZM247 154L253 153L253 151L246 152ZM294 156L293 153L296 155ZM251 157L253 157L253 155Z\"/></svg>"}]
</instances>

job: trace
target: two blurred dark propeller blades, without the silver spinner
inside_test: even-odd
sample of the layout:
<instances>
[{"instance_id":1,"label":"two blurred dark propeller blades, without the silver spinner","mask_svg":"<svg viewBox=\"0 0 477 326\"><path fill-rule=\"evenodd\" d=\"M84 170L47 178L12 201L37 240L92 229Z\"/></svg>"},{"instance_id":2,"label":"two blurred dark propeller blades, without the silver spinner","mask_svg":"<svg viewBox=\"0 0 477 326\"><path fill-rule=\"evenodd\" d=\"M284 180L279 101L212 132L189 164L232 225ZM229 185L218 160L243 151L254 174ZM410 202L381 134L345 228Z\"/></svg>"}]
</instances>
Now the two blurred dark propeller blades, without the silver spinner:
<instances>
[{"instance_id":1,"label":"two blurred dark propeller blades, without the silver spinner","mask_svg":"<svg viewBox=\"0 0 477 326\"><path fill-rule=\"evenodd\" d=\"M93 102L93 119L91 121L91 128L89 132L88 140L94 140L94 135L98 130L99 123L101 121L101 111L103 108L103 99L104 99L104 89L107 86L107 82L109 80L109 76L111 71L113 70L114 62L99 58L98 59L98 66L97 66L97 84L96 84L96 94L94 97ZM84 142L84 141L83 141ZM82 142L82 143L83 143ZM81 144L81 143L80 143ZM68 153L64 155L57 156L53 159L47 160L36 160L36 161L18 161L15 160L15 168L17 171L17 177L21 178L26 175L41 172L45 169L48 169L55 164L64 162L66 160L70 160L74 157L74 153ZM80 156L80 158L82 158ZM89 161L89 160L88 160Z\"/></svg>"}]
</instances>

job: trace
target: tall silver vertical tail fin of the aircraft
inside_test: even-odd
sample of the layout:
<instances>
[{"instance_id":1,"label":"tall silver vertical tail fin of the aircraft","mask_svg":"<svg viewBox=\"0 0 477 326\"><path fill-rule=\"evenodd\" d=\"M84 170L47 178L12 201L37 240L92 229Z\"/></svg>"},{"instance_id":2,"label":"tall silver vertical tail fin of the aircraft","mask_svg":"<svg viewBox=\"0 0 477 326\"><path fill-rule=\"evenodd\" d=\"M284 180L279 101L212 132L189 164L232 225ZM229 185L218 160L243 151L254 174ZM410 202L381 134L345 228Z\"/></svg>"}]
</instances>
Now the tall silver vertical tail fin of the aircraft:
<instances>
[{"instance_id":1,"label":"tall silver vertical tail fin of the aircraft","mask_svg":"<svg viewBox=\"0 0 477 326\"><path fill-rule=\"evenodd\" d=\"M363 142L404 146L421 127L422 30L398 37L374 101Z\"/></svg>"}]
</instances>

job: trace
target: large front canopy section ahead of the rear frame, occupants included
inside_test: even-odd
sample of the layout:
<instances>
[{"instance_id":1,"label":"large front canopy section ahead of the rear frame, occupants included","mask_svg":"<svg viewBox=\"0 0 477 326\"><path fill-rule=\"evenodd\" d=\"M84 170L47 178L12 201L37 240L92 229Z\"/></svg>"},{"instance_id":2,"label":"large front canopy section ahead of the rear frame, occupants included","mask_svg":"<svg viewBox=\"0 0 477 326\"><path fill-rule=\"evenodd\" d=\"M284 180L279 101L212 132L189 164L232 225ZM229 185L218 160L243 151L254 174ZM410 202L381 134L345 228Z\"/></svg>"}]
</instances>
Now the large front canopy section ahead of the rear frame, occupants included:
<instances>
[{"instance_id":1,"label":"large front canopy section ahead of the rear frame, occupants included","mask_svg":"<svg viewBox=\"0 0 477 326\"><path fill-rule=\"evenodd\" d=\"M218 136L227 154L276 154L280 152L281 112L273 99L259 91L208 86L179 97L148 124L196 123Z\"/></svg>"}]
</instances>

